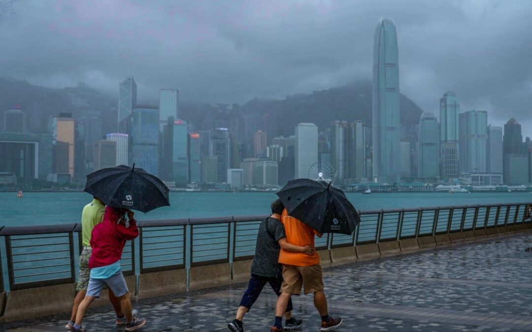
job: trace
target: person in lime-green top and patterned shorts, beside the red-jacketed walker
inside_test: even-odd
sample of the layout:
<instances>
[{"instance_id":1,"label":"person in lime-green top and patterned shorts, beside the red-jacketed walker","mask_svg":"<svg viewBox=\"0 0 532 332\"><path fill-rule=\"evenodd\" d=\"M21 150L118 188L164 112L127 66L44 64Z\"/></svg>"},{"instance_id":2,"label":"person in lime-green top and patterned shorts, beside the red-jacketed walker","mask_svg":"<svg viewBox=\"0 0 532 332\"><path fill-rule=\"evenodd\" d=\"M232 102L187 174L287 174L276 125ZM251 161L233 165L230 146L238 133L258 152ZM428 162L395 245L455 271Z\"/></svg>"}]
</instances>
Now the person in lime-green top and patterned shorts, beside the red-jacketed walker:
<instances>
[{"instance_id":1,"label":"person in lime-green top and patterned shorts, beside the red-jacketed walker","mask_svg":"<svg viewBox=\"0 0 532 332\"><path fill-rule=\"evenodd\" d=\"M70 320L65 325L65 329L67 330L71 330L74 327L79 304L87 293L90 275L89 258L93 252L93 249L90 246L90 236L93 233L94 226L102 222L104 212L105 203L101 199L94 196L93 201L88 203L83 208L83 212L81 212L81 239L83 249L81 250L81 254L79 256L79 278L76 285L76 291L78 293L76 294L76 297L74 297ZM118 301L117 297L114 296L113 291L111 290L109 290L109 301L113 305L114 311L117 314L117 325L126 324L126 316L124 316L124 313L120 308L120 301Z\"/></svg>"}]
</instances>

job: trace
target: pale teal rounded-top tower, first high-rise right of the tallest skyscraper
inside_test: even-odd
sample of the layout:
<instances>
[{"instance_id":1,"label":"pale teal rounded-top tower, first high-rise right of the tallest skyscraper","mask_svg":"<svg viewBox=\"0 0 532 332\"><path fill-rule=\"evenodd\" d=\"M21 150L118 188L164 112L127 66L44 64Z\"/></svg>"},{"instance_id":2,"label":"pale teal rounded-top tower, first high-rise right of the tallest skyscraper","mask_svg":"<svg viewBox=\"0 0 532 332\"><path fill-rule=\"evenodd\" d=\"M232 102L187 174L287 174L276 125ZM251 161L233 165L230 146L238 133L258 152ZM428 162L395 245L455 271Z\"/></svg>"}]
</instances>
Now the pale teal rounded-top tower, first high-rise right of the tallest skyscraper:
<instances>
[{"instance_id":1,"label":"pale teal rounded-top tower, first high-rise right of the tallest skyscraper","mask_svg":"<svg viewBox=\"0 0 532 332\"><path fill-rule=\"evenodd\" d=\"M440 133L436 116L423 112L419 123L419 177L439 176Z\"/></svg>"}]
</instances>

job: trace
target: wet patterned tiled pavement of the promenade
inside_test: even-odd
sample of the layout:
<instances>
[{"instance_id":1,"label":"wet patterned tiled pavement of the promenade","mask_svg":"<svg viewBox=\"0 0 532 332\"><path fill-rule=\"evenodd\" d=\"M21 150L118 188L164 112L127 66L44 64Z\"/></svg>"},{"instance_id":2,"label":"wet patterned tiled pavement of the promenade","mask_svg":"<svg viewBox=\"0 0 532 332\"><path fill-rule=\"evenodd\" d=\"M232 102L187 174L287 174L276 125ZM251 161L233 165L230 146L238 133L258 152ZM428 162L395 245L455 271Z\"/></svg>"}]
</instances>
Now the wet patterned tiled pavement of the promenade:
<instances>
[{"instance_id":1,"label":"wet patterned tiled pavement of the promenade","mask_svg":"<svg viewBox=\"0 0 532 332\"><path fill-rule=\"evenodd\" d=\"M344 318L338 331L532 330L532 234L500 237L328 269L331 314ZM245 284L141 300L148 322L142 331L225 331ZM68 299L71 301L71 299ZM268 330L276 297L263 294L244 319L245 329ZM294 301L304 331L319 331L311 296ZM16 332L62 331L65 316L2 327ZM110 308L89 311L93 331L123 331Z\"/></svg>"}]
</instances>

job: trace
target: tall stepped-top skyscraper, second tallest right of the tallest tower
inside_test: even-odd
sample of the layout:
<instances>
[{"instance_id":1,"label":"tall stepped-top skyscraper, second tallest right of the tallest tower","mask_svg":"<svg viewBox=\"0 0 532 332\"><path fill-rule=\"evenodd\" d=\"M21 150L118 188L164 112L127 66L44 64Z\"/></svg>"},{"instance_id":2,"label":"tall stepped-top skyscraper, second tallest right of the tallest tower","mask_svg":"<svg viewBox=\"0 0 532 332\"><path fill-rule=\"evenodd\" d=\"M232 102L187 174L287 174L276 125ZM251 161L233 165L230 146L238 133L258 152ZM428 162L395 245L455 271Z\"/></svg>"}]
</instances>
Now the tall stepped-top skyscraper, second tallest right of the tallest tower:
<instances>
[{"instance_id":1,"label":"tall stepped-top skyscraper, second tallest right of the tallest tower","mask_svg":"<svg viewBox=\"0 0 532 332\"><path fill-rule=\"evenodd\" d=\"M448 91L439 99L440 149L442 178L459 175L459 113L460 100L456 93Z\"/></svg>"}]
</instances>

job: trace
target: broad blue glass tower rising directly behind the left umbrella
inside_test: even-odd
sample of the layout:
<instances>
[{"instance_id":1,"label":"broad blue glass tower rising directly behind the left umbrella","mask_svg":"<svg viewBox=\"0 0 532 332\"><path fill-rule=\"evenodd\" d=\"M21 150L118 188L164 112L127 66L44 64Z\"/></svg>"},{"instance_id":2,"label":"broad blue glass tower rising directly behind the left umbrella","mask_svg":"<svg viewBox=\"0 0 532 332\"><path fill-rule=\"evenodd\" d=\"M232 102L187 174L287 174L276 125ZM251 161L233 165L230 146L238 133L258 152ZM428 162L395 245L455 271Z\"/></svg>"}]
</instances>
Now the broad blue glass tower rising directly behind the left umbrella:
<instances>
[{"instance_id":1,"label":"broad blue glass tower rising directly behind the left umbrella","mask_svg":"<svg viewBox=\"0 0 532 332\"><path fill-rule=\"evenodd\" d=\"M133 109L131 162L148 173L159 173L159 109L143 106Z\"/></svg>"}]
</instances>

